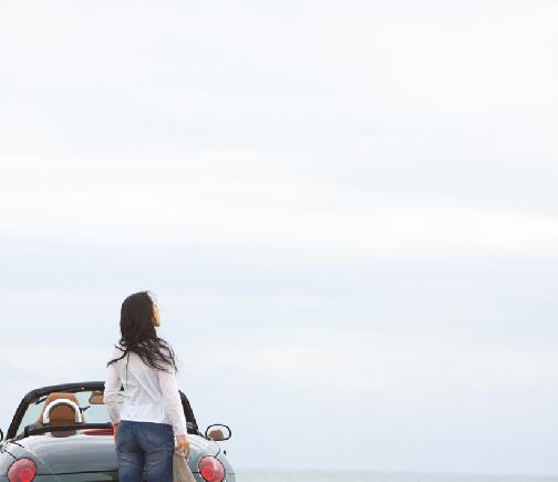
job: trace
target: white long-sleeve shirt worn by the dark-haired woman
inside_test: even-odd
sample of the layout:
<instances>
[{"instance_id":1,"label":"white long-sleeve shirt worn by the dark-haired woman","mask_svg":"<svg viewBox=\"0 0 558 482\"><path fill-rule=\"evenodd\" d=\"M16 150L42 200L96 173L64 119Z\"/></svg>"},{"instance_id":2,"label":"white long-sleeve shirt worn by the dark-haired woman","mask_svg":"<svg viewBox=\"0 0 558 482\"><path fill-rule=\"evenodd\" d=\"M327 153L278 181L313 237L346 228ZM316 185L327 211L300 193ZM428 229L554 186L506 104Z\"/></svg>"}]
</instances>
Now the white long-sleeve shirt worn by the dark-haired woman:
<instances>
[{"instance_id":1,"label":"white long-sleeve shirt worn by the dark-haired woman","mask_svg":"<svg viewBox=\"0 0 558 482\"><path fill-rule=\"evenodd\" d=\"M123 352L114 348L111 359L121 357ZM168 369L170 372L149 367L134 352L128 352L122 360L110 365L104 403L111 422L115 424L121 420L133 420L167 423L173 425L175 435L186 434L186 417L178 393L176 371L172 366ZM116 406L121 386L124 386L122 412Z\"/></svg>"}]
</instances>

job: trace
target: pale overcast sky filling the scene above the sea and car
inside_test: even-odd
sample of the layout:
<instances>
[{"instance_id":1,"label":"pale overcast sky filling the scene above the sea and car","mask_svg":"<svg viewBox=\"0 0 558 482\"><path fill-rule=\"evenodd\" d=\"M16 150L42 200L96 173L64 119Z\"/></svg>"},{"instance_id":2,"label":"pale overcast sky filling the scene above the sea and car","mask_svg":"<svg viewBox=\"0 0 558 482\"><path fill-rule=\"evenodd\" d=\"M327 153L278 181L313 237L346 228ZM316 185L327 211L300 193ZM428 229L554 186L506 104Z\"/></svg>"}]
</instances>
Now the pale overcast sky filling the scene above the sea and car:
<instances>
[{"instance_id":1,"label":"pale overcast sky filling the scene above the sea and car","mask_svg":"<svg viewBox=\"0 0 558 482\"><path fill-rule=\"evenodd\" d=\"M0 428L151 289L238 469L558 474L557 21L1 2Z\"/></svg>"}]
</instances>

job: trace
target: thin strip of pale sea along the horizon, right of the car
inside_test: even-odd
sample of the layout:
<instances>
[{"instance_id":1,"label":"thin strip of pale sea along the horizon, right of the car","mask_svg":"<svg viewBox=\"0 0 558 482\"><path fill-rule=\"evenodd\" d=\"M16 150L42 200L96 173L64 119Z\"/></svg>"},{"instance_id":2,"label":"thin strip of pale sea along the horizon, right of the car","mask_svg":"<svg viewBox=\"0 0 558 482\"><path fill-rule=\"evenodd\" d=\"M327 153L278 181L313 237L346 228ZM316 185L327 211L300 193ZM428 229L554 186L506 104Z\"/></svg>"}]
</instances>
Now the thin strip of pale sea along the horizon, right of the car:
<instances>
[{"instance_id":1,"label":"thin strip of pale sea along the horizon, right of the car","mask_svg":"<svg viewBox=\"0 0 558 482\"><path fill-rule=\"evenodd\" d=\"M558 482L558 475L237 470L237 482Z\"/></svg>"}]
</instances>

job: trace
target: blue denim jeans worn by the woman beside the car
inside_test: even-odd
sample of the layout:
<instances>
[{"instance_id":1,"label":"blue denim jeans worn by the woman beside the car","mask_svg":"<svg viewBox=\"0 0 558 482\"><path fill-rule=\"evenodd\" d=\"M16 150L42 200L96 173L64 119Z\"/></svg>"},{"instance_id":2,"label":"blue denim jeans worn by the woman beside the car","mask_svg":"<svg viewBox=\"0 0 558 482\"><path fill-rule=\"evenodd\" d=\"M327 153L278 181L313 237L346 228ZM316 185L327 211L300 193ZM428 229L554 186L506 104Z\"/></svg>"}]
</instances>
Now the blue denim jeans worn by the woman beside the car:
<instances>
[{"instance_id":1,"label":"blue denim jeans worn by the woman beside the car","mask_svg":"<svg viewBox=\"0 0 558 482\"><path fill-rule=\"evenodd\" d=\"M120 482L173 482L173 427L122 420L116 438Z\"/></svg>"}]
</instances>

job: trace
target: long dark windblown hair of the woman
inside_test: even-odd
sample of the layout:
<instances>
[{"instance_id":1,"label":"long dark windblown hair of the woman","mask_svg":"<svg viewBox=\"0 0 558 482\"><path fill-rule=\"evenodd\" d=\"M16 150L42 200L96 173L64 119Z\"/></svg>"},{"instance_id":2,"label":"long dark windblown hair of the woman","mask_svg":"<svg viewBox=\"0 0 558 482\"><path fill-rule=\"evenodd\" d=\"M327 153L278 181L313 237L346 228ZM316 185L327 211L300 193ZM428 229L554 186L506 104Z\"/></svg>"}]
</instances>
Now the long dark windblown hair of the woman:
<instances>
[{"instance_id":1,"label":"long dark windblown hair of the woman","mask_svg":"<svg viewBox=\"0 0 558 482\"><path fill-rule=\"evenodd\" d=\"M108 361L107 367L134 352L149 367L163 371L170 371L172 367L177 371L173 348L155 332L154 306L149 291L134 293L122 302L120 345L124 349L115 346L122 350L122 357Z\"/></svg>"}]
</instances>

